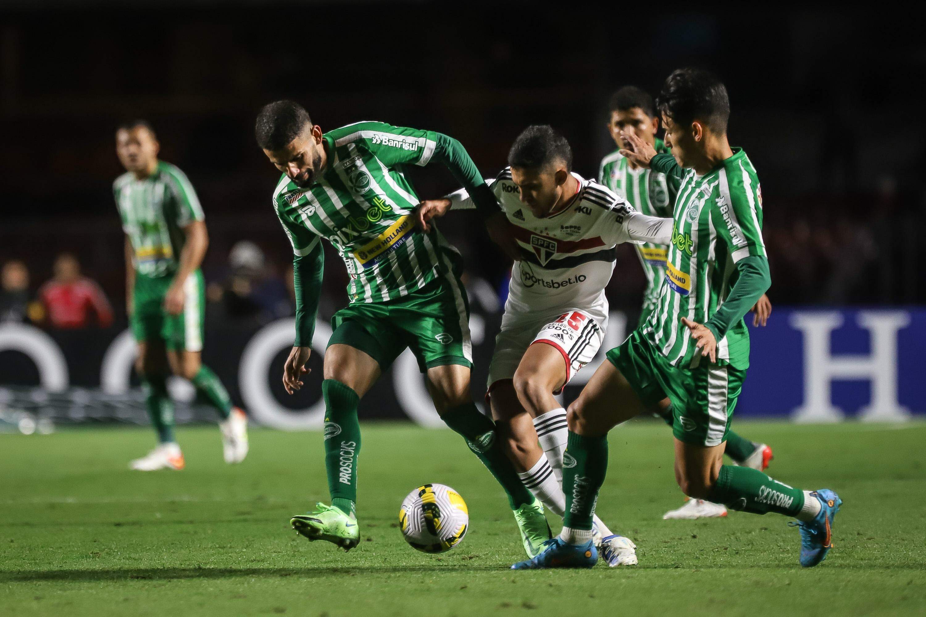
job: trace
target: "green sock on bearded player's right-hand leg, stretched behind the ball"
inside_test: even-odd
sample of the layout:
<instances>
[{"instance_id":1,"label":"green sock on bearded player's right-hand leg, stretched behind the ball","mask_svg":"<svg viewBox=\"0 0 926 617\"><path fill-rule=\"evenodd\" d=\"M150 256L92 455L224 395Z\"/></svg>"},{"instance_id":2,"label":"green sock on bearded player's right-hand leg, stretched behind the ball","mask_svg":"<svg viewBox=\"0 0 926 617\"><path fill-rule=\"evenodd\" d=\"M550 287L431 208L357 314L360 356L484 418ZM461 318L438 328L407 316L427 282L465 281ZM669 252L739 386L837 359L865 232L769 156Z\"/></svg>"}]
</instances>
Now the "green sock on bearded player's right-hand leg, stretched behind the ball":
<instances>
[{"instance_id":1,"label":"green sock on bearded player's right-hand leg, stretched behind the ball","mask_svg":"<svg viewBox=\"0 0 926 617\"><path fill-rule=\"evenodd\" d=\"M498 484L505 489L512 510L533 503L531 491L521 482L514 463L511 463L498 444L495 423L480 413L475 403L469 402L448 410L441 419L466 439L469 450L489 468Z\"/></svg>"}]
</instances>

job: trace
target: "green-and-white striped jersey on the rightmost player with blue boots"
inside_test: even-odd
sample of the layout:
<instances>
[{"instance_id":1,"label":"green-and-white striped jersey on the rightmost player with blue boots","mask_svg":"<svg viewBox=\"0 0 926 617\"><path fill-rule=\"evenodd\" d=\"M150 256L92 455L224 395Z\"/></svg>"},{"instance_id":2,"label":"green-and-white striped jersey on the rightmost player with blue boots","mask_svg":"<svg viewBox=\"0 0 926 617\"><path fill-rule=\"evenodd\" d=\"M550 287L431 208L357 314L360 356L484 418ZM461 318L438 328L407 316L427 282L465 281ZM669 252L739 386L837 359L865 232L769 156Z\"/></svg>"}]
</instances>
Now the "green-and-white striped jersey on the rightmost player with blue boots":
<instances>
[{"instance_id":1,"label":"green-and-white striped jersey on the rightmost player with blue boots","mask_svg":"<svg viewBox=\"0 0 926 617\"><path fill-rule=\"evenodd\" d=\"M669 362L694 367L695 353L682 317L704 324L732 290L736 262L766 256L762 191L756 169L740 148L704 176L685 169L675 200L665 284L644 335ZM749 366L749 332L741 318L718 341L718 364Z\"/></svg>"}]
</instances>

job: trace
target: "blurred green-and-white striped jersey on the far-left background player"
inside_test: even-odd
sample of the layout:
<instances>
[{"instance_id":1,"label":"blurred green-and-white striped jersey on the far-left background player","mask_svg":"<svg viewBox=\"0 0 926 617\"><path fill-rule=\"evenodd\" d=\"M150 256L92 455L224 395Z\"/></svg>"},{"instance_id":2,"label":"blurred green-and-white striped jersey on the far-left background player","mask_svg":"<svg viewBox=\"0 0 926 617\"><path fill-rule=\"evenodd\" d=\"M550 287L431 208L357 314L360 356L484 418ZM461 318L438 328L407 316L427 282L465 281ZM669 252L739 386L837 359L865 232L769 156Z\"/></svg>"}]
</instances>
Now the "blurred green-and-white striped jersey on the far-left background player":
<instances>
[{"instance_id":1,"label":"blurred green-and-white striped jersey on the far-left background player","mask_svg":"<svg viewBox=\"0 0 926 617\"><path fill-rule=\"evenodd\" d=\"M183 228L205 218L190 180L176 166L158 161L155 173L145 179L131 172L119 176L113 193L135 271L152 278L172 276L186 241Z\"/></svg>"}]
</instances>

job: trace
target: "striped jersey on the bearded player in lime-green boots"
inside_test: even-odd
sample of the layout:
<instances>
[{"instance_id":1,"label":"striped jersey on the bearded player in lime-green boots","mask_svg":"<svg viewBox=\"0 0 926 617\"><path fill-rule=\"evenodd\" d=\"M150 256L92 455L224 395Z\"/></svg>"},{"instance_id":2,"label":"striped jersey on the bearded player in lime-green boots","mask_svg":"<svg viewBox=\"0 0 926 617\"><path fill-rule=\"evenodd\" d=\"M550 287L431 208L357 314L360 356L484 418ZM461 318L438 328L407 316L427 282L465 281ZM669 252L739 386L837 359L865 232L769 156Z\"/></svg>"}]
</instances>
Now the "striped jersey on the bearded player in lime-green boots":
<instances>
[{"instance_id":1,"label":"striped jersey on the bearded player in lime-green boots","mask_svg":"<svg viewBox=\"0 0 926 617\"><path fill-rule=\"evenodd\" d=\"M328 161L319 178L300 188L284 175L273 192L293 252L307 255L327 238L351 277L352 303L400 298L450 273L459 253L436 226L415 227L419 198L402 169L428 165L442 136L357 122L323 137Z\"/></svg>"}]
</instances>

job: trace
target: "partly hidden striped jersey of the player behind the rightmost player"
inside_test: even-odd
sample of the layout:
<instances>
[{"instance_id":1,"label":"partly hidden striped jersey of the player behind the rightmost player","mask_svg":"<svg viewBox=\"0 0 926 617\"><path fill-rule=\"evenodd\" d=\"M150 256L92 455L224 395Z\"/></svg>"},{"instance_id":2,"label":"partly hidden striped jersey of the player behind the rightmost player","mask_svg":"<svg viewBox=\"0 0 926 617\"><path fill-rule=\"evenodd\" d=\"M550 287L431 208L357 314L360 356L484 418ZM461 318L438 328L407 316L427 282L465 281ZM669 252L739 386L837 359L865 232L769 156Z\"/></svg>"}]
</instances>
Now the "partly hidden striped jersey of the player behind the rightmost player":
<instances>
[{"instance_id":1,"label":"partly hidden striped jersey of the player behind the rightmost player","mask_svg":"<svg viewBox=\"0 0 926 617\"><path fill-rule=\"evenodd\" d=\"M657 153L669 152L662 140L657 139L654 145ZM679 190L679 179L674 176L666 176L645 167L634 169L616 150L602 159L598 181L646 216L672 216L672 204ZM637 244L635 249L646 276L644 306L655 304L666 273L667 249L651 242Z\"/></svg>"}]
</instances>

